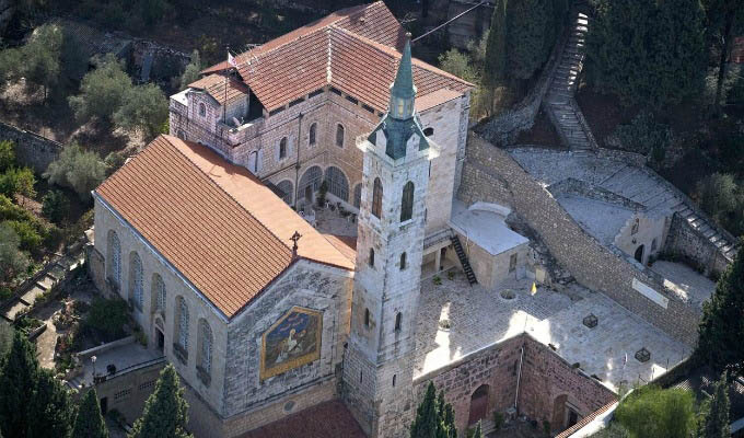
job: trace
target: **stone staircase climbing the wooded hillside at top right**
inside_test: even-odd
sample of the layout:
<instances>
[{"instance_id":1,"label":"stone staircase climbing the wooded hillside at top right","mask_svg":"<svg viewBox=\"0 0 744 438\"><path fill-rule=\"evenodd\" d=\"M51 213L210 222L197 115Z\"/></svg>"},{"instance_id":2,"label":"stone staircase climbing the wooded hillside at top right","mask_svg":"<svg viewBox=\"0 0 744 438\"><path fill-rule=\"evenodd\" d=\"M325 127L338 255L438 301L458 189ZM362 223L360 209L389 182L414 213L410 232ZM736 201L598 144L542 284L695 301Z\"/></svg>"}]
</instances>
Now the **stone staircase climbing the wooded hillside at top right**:
<instances>
[{"instance_id":1,"label":"stone staircase climbing the wooded hillside at top right","mask_svg":"<svg viewBox=\"0 0 744 438\"><path fill-rule=\"evenodd\" d=\"M588 127L583 122L583 115L580 114L579 106L573 100L584 60L586 32L589 31L589 14L583 10L579 5L572 12L572 30L545 99L550 119L571 150L591 150L595 147L591 132L588 132Z\"/></svg>"}]
</instances>

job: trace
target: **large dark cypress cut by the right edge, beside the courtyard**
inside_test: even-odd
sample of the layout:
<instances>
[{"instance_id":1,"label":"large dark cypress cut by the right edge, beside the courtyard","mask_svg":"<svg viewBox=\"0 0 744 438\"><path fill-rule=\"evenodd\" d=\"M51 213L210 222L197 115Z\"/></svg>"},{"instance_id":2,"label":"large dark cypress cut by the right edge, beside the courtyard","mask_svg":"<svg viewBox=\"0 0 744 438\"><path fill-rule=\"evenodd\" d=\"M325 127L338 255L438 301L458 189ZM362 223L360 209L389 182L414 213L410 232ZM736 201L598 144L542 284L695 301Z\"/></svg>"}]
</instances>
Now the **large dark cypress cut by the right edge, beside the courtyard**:
<instances>
[{"instance_id":1,"label":"large dark cypress cut by the right edge, beside the courtyard","mask_svg":"<svg viewBox=\"0 0 744 438\"><path fill-rule=\"evenodd\" d=\"M742 242L744 244L744 242ZM744 376L744 246L702 304L695 355L717 371Z\"/></svg>"}]
</instances>

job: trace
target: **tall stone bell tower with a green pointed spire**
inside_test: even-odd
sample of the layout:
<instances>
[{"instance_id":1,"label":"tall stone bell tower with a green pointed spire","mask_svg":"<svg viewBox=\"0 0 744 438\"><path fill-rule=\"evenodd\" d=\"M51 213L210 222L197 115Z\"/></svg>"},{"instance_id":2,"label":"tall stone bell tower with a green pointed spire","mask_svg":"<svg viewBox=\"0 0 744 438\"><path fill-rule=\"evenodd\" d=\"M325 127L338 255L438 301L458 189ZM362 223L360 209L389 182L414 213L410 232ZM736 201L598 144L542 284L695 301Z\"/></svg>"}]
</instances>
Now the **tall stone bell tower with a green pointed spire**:
<instances>
[{"instance_id":1,"label":"tall stone bell tower with a green pointed spire","mask_svg":"<svg viewBox=\"0 0 744 438\"><path fill-rule=\"evenodd\" d=\"M387 113L357 141L364 159L344 394L371 437L406 435L415 411L416 310L433 152L415 96L407 42Z\"/></svg>"}]
</instances>

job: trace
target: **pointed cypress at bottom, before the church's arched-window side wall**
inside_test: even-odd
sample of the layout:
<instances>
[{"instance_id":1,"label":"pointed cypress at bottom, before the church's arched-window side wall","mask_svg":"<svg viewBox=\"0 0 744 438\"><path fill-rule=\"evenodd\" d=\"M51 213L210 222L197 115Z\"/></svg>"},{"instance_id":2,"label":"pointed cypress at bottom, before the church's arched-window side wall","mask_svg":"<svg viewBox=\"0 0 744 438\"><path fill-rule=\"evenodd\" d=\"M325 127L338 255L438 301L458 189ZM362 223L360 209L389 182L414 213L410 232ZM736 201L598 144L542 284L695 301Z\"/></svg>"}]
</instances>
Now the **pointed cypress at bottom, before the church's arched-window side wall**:
<instances>
[{"instance_id":1,"label":"pointed cypress at bottom, before the church's arched-window side wall","mask_svg":"<svg viewBox=\"0 0 744 438\"><path fill-rule=\"evenodd\" d=\"M129 438L191 438L186 431L188 403L173 365L160 373L155 391L144 403L142 416L135 422Z\"/></svg>"}]
</instances>

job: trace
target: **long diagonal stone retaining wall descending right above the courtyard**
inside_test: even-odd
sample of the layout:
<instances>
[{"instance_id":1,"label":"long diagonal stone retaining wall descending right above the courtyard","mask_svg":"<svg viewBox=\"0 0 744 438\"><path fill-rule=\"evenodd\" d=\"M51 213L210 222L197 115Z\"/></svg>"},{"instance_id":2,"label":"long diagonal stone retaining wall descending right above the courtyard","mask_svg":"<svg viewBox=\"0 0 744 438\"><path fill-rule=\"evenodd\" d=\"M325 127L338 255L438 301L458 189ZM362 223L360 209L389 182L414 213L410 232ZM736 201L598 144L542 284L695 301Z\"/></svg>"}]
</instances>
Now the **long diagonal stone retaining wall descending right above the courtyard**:
<instances>
[{"instance_id":1,"label":"long diagonal stone retaining wall descending right above the courtyard","mask_svg":"<svg viewBox=\"0 0 744 438\"><path fill-rule=\"evenodd\" d=\"M468 205L481 200L511 206L579 283L604 292L678 341L689 345L697 341L696 311L666 292L658 279L600 244L508 152L477 136L468 140L458 196ZM633 279L669 298L667 309L633 289Z\"/></svg>"}]
</instances>

